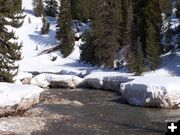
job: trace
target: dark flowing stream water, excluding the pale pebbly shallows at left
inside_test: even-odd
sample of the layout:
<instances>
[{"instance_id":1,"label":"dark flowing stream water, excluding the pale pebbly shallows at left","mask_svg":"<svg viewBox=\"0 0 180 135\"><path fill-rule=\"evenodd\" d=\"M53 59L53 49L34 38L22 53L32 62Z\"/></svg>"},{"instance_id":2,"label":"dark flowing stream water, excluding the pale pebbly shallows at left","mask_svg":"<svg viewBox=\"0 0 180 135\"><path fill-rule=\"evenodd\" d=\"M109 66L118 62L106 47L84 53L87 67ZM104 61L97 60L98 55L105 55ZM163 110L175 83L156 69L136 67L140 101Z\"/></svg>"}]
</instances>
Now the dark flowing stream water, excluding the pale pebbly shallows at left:
<instances>
[{"instance_id":1,"label":"dark flowing stream water, excluding the pale pebbly shallows at left","mask_svg":"<svg viewBox=\"0 0 180 135\"><path fill-rule=\"evenodd\" d=\"M49 121L41 133L47 135L164 135L167 120L180 119L180 110L143 108L123 104L120 95L100 90L45 92L42 99L77 100L82 107L46 104L51 113L71 119Z\"/></svg>"}]
</instances>

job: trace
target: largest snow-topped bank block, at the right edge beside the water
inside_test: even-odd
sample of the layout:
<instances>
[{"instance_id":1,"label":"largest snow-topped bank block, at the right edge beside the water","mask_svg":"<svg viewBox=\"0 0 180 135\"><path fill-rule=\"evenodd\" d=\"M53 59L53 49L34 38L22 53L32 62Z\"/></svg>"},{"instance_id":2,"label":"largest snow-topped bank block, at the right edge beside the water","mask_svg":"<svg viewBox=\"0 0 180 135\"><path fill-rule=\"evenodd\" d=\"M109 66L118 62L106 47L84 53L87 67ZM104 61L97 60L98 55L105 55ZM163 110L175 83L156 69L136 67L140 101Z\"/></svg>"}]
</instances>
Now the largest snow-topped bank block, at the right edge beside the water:
<instances>
[{"instance_id":1,"label":"largest snow-topped bank block, at the right edge beside the water","mask_svg":"<svg viewBox=\"0 0 180 135\"><path fill-rule=\"evenodd\" d=\"M132 105L178 108L179 84L180 77L136 77L121 84L120 93Z\"/></svg>"}]
</instances>

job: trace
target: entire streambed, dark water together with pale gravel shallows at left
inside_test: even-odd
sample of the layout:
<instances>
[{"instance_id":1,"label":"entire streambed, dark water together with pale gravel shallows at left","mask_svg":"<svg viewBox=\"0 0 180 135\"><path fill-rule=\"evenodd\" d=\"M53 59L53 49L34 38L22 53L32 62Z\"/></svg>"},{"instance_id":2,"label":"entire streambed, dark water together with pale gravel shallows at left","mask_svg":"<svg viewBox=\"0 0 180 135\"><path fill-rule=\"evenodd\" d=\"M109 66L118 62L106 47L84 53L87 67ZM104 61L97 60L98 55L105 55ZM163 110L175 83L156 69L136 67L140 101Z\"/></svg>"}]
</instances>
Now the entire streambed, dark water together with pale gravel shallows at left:
<instances>
[{"instance_id":1,"label":"entire streambed, dark water together with pale gravel shallows at left","mask_svg":"<svg viewBox=\"0 0 180 135\"><path fill-rule=\"evenodd\" d=\"M21 135L164 135L180 109L130 106L117 93L92 89L50 89L23 116L1 118ZM18 123L18 124L17 124Z\"/></svg>"}]
</instances>

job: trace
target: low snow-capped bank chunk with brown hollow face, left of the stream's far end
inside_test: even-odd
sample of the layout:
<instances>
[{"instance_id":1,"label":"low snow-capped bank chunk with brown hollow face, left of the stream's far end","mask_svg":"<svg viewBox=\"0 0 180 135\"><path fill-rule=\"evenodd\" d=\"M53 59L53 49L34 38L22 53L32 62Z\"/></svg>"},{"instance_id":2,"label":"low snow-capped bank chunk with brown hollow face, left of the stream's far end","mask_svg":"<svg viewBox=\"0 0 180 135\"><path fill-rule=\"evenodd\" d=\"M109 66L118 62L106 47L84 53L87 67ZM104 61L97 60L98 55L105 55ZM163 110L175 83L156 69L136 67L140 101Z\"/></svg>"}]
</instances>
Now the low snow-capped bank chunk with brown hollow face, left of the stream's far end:
<instances>
[{"instance_id":1,"label":"low snow-capped bank chunk with brown hollow face, left of the stream's far end","mask_svg":"<svg viewBox=\"0 0 180 135\"><path fill-rule=\"evenodd\" d=\"M43 88L76 88L83 79L74 75L40 74L31 80L31 84Z\"/></svg>"}]
</instances>

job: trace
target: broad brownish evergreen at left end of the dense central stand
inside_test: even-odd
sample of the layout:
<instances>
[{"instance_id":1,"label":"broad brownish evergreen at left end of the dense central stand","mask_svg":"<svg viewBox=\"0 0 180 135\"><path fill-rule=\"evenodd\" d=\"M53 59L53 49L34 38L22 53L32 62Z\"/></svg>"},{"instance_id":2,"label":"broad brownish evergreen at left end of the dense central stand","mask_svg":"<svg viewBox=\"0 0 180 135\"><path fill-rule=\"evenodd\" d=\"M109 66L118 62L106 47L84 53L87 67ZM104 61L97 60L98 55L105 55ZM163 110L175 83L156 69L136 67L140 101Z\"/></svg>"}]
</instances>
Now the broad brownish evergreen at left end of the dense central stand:
<instances>
[{"instance_id":1,"label":"broad brownish evergreen at left end of the dense central stand","mask_svg":"<svg viewBox=\"0 0 180 135\"><path fill-rule=\"evenodd\" d=\"M118 58L121 40L121 0L96 1L95 18L90 34L82 46L81 60L94 65L112 68ZM89 50L91 51L89 52ZM86 53L88 55L86 55Z\"/></svg>"}]
</instances>

